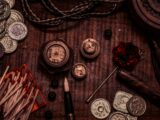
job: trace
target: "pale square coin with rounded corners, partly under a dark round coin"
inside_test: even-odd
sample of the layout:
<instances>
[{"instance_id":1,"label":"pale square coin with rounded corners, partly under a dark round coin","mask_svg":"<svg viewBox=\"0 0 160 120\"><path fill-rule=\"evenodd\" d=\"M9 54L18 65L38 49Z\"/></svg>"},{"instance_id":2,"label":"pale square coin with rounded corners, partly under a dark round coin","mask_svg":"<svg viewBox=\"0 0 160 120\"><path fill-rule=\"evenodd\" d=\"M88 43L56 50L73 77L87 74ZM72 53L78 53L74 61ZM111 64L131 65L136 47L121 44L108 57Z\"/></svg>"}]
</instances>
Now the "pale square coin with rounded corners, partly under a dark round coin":
<instances>
[{"instance_id":1,"label":"pale square coin with rounded corners, partly under a dark round coin","mask_svg":"<svg viewBox=\"0 0 160 120\"><path fill-rule=\"evenodd\" d=\"M115 95L114 101L113 101L113 107L114 109L128 113L126 104L129 101L129 99L132 97L131 94L123 92L123 91L118 91Z\"/></svg>"}]
</instances>

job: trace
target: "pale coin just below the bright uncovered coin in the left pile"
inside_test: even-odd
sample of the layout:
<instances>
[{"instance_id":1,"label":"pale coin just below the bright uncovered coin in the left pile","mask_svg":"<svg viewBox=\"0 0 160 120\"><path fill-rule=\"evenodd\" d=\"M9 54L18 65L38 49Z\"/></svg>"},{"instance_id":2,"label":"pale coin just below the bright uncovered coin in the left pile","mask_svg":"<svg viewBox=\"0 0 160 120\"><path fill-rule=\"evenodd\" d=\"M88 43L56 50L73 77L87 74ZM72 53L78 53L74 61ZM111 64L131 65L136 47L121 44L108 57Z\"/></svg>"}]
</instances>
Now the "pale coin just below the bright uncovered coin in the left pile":
<instances>
[{"instance_id":1,"label":"pale coin just below the bright uncovered coin in the left pile","mask_svg":"<svg viewBox=\"0 0 160 120\"><path fill-rule=\"evenodd\" d=\"M9 36L5 36L0 40L0 43L5 48L5 53L12 53L17 49L18 43L15 40L12 40Z\"/></svg>"}]
</instances>

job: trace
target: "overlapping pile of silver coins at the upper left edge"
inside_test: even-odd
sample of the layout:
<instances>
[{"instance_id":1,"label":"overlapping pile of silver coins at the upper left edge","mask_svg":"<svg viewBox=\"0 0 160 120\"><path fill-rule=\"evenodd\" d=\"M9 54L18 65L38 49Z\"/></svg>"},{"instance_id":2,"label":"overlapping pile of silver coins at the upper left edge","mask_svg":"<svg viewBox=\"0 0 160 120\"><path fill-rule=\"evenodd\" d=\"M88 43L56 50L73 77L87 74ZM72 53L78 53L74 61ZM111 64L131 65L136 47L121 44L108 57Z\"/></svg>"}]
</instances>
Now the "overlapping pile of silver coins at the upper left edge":
<instances>
[{"instance_id":1,"label":"overlapping pile of silver coins at the upper left edge","mask_svg":"<svg viewBox=\"0 0 160 120\"><path fill-rule=\"evenodd\" d=\"M18 42L28 33L23 15L12 9L14 4L15 0L0 1L0 58L4 54L13 53Z\"/></svg>"}]
</instances>

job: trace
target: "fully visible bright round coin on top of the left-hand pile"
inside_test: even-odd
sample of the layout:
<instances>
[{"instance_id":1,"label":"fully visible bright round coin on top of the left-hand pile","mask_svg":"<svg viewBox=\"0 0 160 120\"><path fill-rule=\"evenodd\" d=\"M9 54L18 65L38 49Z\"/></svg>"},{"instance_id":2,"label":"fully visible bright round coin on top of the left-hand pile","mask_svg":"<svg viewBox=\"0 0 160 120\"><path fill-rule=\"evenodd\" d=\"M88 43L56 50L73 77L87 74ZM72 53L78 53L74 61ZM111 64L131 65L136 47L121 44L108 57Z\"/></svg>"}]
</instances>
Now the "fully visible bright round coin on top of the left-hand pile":
<instances>
[{"instance_id":1,"label":"fully visible bright round coin on top of the left-hand pile","mask_svg":"<svg viewBox=\"0 0 160 120\"><path fill-rule=\"evenodd\" d=\"M14 22L8 27L8 35L14 40L23 40L27 34L27 27L22 22Z\"/></svg>"}]
</instances>

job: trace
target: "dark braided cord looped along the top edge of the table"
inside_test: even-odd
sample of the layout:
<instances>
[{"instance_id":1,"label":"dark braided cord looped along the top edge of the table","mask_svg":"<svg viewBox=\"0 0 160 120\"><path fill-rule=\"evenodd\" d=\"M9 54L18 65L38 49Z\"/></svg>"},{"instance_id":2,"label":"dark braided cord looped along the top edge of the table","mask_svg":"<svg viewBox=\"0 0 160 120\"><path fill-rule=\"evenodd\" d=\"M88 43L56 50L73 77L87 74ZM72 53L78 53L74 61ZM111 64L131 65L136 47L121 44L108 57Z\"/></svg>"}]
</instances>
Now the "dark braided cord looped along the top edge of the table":
<instances>
[{"instance_id":1,"label":"dark braided cord looped along the top edge of the table","mask_svg":"<svg viewBox=\"0 0 160 120\"><path fill-rule=\"evenodd\" d=\"M58 26L62 24L65 20L71 19L71 20L80 20L86 17L90 16L107 16L114 12L117 8L117 3L111 4L111 10L106 11L104 13L93 13L90 12L93 8L100 5L99 0L89 0L89 1L83 1L73 7L69 11L62 11L58 9L51 0L41 0L41 3L43 6L49 10L52 14L54 14L54 17L42 19L38 17L31 9L31 6L28 3L28 0L21 0L22 7L25 16L29 19L29 21L36 23L38 25L53 27Z\"/></svg>"}]
</instances>

